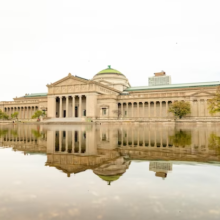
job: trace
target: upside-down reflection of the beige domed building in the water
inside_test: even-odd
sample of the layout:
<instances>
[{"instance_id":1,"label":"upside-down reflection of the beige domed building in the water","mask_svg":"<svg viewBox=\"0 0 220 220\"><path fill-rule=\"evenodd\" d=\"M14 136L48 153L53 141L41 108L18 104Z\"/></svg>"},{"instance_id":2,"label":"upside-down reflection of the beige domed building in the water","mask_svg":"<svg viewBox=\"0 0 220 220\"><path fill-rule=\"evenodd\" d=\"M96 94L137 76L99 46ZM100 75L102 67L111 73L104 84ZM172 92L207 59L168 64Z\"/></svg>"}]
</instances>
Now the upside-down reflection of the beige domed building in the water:
<instances>
[{"instance_id":1,"label":"upside-down reflection of the beige domed building in the water","mask_svg":"<svg viewBox=\"0 0 220 220\"><path fill-rule=\"evenodd\" d=\"M44 153L46 165L66 173L93 170L110 185L132 160L150 161L150 171L166 178L169 161L220 161L218 127L166 126L4 126L0 146ZM158 161L162 160L162 161ZM165 162L168 161L168 162Z\"/></svg>"}]
</instances>

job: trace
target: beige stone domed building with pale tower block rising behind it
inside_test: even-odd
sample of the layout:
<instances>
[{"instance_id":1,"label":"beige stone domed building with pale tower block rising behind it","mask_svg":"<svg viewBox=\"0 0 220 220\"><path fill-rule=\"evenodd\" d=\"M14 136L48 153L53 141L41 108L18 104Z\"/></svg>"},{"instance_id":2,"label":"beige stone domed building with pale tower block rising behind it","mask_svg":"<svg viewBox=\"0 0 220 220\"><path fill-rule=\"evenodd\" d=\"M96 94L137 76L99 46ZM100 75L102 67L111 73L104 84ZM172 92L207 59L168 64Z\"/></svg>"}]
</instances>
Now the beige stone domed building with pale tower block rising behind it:
<instances>
[{"instance_id":1,"label":"beige stone domed building with pale tower block rising behind it","mask_svg":"<svg viewBox=\"0 0 220 220\"><path fill-rule=\"evenodd\" d=\"M190 118L213 117L207 101L213 97L219 81L171 84L161 71L149 77L148 86L132 87L126 76L108 66L91 80L70 73L47 85L47 93L26 94L14 101L0 102L9 115L19 112L30 119L36 110L46 111L48 121L115 120L147 121L169 119L168 106L174 101L189 101ZM219 117L220 114L215 116Z\"/></svg>"}]
</instances>

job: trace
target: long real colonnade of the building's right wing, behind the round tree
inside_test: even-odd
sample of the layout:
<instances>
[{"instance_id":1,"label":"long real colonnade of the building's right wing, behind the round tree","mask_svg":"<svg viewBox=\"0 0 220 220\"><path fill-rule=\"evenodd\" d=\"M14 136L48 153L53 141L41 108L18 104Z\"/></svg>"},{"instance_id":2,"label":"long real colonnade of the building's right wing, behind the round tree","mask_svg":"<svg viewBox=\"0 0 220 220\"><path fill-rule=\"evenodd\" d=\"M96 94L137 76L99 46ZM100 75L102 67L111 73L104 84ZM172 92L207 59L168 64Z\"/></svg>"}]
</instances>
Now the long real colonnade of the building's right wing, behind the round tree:
<instances>
[{"instance_id":1,"label":"long real colonnade of the building's right wing, behind the round tree","mask_svg":"<svg viewBox=\"0 0 220 220\"><path fill-rule=\"evenodd\" d=\"M136 101L136 102L119 102L118 110L120 111L120 117L123 118L135 118L135 117L172 117L173 115L168 112L169 105L177 100L170 101ZM184 100L178 100L184 101ZM191 114L193 117L207 117L210 116L208 112L208 100L196 99L189 100L191 106ZM220 114L216 114L219 116Z\"/></svg>"}]
</instances>

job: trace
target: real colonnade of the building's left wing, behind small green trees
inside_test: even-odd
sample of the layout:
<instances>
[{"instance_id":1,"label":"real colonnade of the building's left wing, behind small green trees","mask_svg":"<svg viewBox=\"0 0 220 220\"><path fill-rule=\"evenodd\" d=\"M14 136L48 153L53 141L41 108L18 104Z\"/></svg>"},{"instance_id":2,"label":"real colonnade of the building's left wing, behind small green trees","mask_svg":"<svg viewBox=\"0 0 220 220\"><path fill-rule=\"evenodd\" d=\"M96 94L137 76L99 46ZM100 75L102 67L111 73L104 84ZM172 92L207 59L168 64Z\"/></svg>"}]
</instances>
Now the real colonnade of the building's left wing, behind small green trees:
<instances>
[{"instance_id":1,"label":"real colonnade of the building's left wing, behind small green trees","mask_svg":"<svg viewBox=\"0 0 220 220\"><path fill-rule=\"evenodd\" d=\"M4 111L6 114L18 112L19 119L31 119L32 115L38 110L38 106L16 106L16 107L5 107Z\"/></svg>"}]
</instances>

